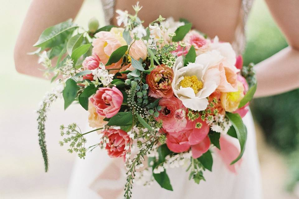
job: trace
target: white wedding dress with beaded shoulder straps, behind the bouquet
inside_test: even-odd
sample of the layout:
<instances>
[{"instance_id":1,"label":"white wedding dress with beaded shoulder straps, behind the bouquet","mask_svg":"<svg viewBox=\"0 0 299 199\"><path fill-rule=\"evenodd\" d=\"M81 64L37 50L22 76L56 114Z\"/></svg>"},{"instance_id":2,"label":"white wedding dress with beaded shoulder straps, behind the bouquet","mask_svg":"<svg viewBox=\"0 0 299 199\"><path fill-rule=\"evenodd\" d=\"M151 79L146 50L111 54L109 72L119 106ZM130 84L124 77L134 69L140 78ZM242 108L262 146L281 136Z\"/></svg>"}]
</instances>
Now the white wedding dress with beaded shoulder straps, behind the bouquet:
<instances>
[{"instance_id":1,"label":"white wedding dress with beaded shoulder straps, behind the bouquet","mask_svg":"<svg viewBox=\"0 0 299 199\"><path fill-rule=\"evenodd\" d=\"M251 0L242 1L240 11L240 24L236 28L236 52L244 49L244 24L251 7ZM114 1L102 0L106 21L109 22L114 15ZM213 167L210 172L206 170L206 181L198 184L188 180L189 172L186 168L167 169L174 191L168 191L154 182L150 187L134 184L133 199L260 199L261 182L259 161L256 150L255 130L250 111L243 118L248 129L246 149L242 162L236 168L236 173L227 169L218 153L213 153ZM86 129L88 131L88 129ZM87 146L99 142L97 133L87 137ZM233 138L237 146L238 141ZM125 184L125 168L120 159L111 159L105 150L96 148L85 160L77 159L69 186L69 199L122 199Z\"/></svg>"}]
</instances>

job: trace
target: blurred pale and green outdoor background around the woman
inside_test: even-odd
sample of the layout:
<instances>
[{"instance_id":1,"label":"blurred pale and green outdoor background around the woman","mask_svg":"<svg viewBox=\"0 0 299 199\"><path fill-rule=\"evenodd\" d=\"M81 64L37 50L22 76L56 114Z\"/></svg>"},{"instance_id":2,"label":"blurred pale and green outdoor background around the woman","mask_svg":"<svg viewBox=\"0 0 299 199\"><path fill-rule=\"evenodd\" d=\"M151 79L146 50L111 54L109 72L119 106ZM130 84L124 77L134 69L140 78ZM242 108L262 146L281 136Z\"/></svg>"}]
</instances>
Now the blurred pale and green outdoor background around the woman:
<instances>
[{"instance_id":1,"label":"blurred pale and green outdoor background around the woman","mask_svg":"<svg viewBox=\"0 0 299 199\"><path fill-rule=\"evenodd\" d=\"M51 85L49 81L18 74L13 62L14 44L30 1L0 0L0 5L0 198L66 198L75 156L69 155L65 148L59 147L59 125L75 121L84 128L87 113L79 106L73 106L64 112L62 101L53 104L48 116L49 121L46 123L50 171L45 174L37 142L34 110L45 91L51 89ZM76 22L86 26L88 19L93 16L104 25L100 1L86 0ZM247 36L245 63L258 63L287 46L262 0L256 0L254 3L247 26ZM266 199L296 198L285 190L286 187L290 189L296 185L295 181L292 181L292 186L286 186L286 172L289 165L293 168L292 171L296 171L297 168L297 161L292 157L298 156L289 154L297 148L298 141L292 137L297 135L299 121L297 119L292 120L292 123L278 123L283 114L290 109L290 106L284 104L288 104L289 100L298 103L298 91L292 91L291 94L257 99L253 103L255 118L261 125L257 125L257 141ZM263 108L269 109L273 104L276 106L270 108L271 110ZM273 117L276 110L279 111L280 118ZM261 129L265 133L262 133ZM284 147L286 145L289 146L287 149ZM292 160L292 164L286 164L289 160Z\"/></svg>"}]
</instances>

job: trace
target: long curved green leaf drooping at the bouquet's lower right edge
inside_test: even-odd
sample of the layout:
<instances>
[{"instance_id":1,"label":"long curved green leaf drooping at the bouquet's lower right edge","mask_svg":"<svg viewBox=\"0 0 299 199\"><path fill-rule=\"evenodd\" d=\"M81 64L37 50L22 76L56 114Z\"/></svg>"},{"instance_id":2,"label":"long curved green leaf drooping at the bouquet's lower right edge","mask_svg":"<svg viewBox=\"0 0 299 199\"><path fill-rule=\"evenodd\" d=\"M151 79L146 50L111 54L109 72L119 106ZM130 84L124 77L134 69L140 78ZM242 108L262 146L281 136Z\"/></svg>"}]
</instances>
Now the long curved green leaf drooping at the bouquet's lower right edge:
<instances>
[{"instance_id":1,"label":"long curved green leaf drooping at the bouquet's lower right edge","mask_svg":"<svg viewBox=\"0 0 299 199\"><path fill-rule=\"evenodd\" d=\"M242 121L242 118L240 117L240 115L238 113L226 112L225 115L230 120L233 127L235 128L235 131L236 131L239 143L240 143L240 147L241 147L241 152L240 152L239 156L234 161L232 161L230 163L230 164L235 164L238 160L241 159L241 157L244 153L246 140L247 140L247 129Z\"/></svg>"}]
</instances>

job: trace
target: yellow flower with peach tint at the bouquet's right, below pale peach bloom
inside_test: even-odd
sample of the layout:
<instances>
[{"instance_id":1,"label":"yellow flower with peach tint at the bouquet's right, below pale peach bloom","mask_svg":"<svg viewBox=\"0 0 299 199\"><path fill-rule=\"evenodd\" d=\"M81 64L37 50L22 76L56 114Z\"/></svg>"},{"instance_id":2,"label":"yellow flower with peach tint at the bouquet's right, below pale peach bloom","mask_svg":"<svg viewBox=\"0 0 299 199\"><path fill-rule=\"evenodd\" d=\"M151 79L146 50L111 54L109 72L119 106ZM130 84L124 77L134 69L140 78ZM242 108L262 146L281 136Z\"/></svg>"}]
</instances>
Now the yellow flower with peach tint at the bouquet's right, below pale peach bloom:
<instances>
[{"instance_id":1,"label":"yellow flower with peach tint at the bouquet's right, below pale peach bloom","mask_svg":"<svg viewBox=\"0 0 299 199\"><path fill-rule=\"evenodd\" d=\"M241 99L244 97L244 86L238 81L238 90L235 92L221 93L221 105L228 112L238 109Z\"/></svg>"}]
</instances>

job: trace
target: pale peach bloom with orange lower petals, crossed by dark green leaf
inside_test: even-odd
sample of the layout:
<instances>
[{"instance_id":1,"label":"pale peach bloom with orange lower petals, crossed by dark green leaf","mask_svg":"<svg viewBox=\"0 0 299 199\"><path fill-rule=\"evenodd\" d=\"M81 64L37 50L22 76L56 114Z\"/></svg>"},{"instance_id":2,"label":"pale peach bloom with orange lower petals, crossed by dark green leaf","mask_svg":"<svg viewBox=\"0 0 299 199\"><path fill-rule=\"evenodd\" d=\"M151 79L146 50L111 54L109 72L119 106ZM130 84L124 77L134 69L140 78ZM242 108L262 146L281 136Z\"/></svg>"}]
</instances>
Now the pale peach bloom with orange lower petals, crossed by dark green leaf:
<instances>
[{"instance_id":1,"label":"pale peach bloom with orange lower petals, crossed by dark green leaf","mask_svg":"<svg viewBox=\"0 0 299 199\"><path fill-rule=\"evenodd\" d=\"M111 56L111 54L119 47L126 45L126 41L122 38L122 28L112 28L108 31L98 32L95 36L96 39L93 40L93 53L95 53L103 64L106 64ZM122 64L122 59L118 62L106 66L106 69L120 68ZM111 70L110 73L115 74L117 70Z\"/></svg>"}]
</instances>

